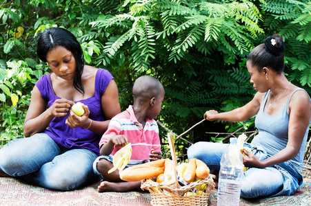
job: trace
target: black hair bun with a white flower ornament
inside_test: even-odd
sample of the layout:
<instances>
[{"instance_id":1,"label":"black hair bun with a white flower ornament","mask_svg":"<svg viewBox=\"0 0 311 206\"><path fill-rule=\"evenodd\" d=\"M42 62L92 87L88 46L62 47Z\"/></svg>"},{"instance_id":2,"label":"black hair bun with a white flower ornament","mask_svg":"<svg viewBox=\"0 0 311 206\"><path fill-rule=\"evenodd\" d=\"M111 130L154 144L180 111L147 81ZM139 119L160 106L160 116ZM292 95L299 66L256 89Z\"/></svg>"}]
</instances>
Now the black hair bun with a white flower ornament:
<instances>
[{"instance_id":1,"label":"black hair bun with a white flower ornament","mask_svg":"<svg viewBox=\"0 0 311 206\"><path fill-rule=\"evenodd\" d=\"M274 56L281 56L285 50L281 36L278 34L268 36L268 38L265 38L265 41L263 42L265 43L265 49L267 49L268 52Z\"/></svg>"}]
</instances>

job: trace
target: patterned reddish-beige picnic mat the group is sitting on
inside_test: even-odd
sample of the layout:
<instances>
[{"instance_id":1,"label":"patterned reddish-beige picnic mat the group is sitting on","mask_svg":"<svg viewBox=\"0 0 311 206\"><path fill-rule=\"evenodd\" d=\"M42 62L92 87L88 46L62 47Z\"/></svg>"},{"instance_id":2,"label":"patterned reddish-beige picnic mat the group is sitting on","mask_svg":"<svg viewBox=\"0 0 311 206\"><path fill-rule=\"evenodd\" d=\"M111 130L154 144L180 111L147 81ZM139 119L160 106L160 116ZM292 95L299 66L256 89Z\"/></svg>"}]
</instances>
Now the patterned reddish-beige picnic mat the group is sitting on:
<instances>
[{"instance_id":1,"label":"patterned reddish-beige picnic mat the group is sitting on","mask_svg":"<svg viewBox=\"0 0 311 206\"><path fill-rule=\"evenodd\" d=\"M57 192L28 185L13 178L0 178L0 205L151 205L149 192L97 192L95 183L79 190ZM208 205L217 205L217 190L210 192ZM305 180L292 196L279 196L247 201L240 205L311 205L311 179Z\"/></svg>"}]
</instances>

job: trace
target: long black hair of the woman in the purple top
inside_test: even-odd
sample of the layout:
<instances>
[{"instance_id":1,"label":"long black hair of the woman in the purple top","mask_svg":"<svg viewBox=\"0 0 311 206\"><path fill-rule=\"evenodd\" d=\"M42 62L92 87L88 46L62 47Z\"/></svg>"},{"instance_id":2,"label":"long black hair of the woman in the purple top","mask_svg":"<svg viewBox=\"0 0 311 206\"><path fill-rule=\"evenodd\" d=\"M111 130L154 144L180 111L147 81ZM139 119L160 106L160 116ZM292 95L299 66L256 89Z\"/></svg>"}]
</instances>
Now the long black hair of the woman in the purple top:
<instances>
[{"instance_id":1,"label":"long black hair of the woman in the purple top","mask_svg":"<svg viewBox=\"0 0 311 206\"><path fill-rule=\"evenodd\" d=\"M76 60L73 87L84 95L84 87L81 80L84 67L83 50L72 33L61 27L52 27L44 30L38 39L37 55L43 62L47 62L46 55L57 46L65 47L72 52Z\"/></svg>"}]
</instances>

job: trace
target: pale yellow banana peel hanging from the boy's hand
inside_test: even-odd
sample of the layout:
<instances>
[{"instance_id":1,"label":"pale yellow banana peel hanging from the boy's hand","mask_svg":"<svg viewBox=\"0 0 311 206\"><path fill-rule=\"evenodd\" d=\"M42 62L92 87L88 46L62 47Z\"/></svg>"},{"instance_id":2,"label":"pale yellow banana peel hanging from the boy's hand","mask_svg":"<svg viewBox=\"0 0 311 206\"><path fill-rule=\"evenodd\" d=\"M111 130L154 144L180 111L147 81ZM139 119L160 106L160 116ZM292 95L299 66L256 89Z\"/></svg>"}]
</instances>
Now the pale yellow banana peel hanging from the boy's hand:
<instances>
[{"instance_id":1,"label":"pale yellow banana peel hanging from the boy's hand","mask_svg":"<svg viewBox=\"0 0 311 206\"><path fill-rule=\"evenodd\" d=\"M132 146L129 143L114 154L112 160L113 168L108 171L108 174L114 172L117 169L121 172L124 168L126 168L126 165L128 165L131 156Z\"/></svg>"}]
</instances>

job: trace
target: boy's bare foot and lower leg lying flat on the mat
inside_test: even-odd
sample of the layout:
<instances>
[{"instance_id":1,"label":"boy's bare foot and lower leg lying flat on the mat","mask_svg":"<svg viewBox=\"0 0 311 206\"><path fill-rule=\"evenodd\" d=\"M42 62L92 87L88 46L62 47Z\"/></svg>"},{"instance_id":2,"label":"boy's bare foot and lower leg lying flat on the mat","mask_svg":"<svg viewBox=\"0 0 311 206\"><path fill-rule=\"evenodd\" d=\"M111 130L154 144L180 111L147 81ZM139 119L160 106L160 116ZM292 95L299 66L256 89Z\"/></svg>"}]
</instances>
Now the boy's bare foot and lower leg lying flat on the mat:
<instances>
[{"instance_id":1,"label":"boy's bare foot and lower leg lying flat on the mat","mask_svg":"<svg viewBox=\"0 0 311 206\"><path fill-rule=\"evenodd\" d=\"M138 182L108 182L102 181L97 187L97 192L128 192L130 190L139 189L141 181Z\"/></svg>"}]
</instances>

